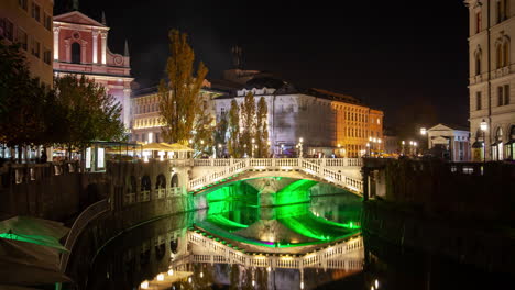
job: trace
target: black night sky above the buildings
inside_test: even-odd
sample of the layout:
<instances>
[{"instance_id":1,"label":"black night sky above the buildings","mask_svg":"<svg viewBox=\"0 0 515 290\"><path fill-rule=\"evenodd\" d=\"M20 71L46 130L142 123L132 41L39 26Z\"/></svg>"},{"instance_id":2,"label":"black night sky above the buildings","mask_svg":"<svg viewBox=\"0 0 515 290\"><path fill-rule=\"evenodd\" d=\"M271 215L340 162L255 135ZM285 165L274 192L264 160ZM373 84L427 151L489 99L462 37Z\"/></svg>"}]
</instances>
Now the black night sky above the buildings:
<instances>
[{"instance_id":1,"label":"black night sky above the buildings","mask_svg":"<svg viewBox=\"0 0 515 290\"><path fill-rule=\"evenodd\" d=\"M56 12L65 1L56 1ZM94 19L102 10L111 51L123 53L129 41L132 75L142 87L163 77L167 32L177 27L210 69L208 79L231 68L230 47L238 44L245 69L352 94L384 110L387 124L423 104L436 109L437 122L468 125L462 0L80 1L79 11Z\"/></svg>"}]
</instances>

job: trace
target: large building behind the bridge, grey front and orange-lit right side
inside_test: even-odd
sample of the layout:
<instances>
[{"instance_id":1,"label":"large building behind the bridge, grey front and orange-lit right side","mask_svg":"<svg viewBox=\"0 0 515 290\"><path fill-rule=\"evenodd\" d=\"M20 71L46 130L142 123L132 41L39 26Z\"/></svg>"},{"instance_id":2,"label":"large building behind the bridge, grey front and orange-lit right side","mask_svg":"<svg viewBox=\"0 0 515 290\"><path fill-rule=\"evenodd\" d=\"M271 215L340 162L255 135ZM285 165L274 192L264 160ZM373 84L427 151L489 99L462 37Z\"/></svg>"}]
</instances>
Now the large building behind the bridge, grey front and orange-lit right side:
<instances>
[{"instance_id":1,"label":"large building behind the bridge, grey front and orange-lit right side","mask_svg":"<svg viewBox=\"0 0 515 290\"><path fill-rule=\"evenodd\" d=\"M261 98L266 101L274 155L298 156L296 148L302 140L304 156L357 157L366 153L372 136L383 138L383 112L350 96L321 89L299 90L269 75L255 74L243 88L216 98L217 119L229 112L232 100L241 105L248 92L254 94L256 103ZM376 150L381 149L377 143Z\"/></svg>"}]
</instances>

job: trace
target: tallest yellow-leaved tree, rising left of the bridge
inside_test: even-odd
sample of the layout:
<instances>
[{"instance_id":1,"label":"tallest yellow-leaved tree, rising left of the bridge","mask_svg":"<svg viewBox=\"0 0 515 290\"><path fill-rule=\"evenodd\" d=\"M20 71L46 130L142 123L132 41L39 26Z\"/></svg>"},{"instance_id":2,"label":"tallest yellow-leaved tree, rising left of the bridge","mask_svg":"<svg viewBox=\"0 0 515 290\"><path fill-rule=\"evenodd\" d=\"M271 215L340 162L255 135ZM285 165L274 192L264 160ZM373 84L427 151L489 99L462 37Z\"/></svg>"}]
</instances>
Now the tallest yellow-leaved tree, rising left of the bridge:
<instances>
[{"instance_id":1,"label":"tallest yellow-leaved tree, rising left of the bridge","mask_svg":"<svg viewBox=\"0 0 515 290\"><path fill-rule=\"evenodd\" d=\"M198 114L204 113L202 110L196 110L201 104L199 92L208 69L200 62L194 76L195 53L187 42L187 35L172 30L168 37L168 81L162 80L160 85L160 109L166 123L162 132L166 142L187 145L193 138Z\"/></svg>"}]
</instances>

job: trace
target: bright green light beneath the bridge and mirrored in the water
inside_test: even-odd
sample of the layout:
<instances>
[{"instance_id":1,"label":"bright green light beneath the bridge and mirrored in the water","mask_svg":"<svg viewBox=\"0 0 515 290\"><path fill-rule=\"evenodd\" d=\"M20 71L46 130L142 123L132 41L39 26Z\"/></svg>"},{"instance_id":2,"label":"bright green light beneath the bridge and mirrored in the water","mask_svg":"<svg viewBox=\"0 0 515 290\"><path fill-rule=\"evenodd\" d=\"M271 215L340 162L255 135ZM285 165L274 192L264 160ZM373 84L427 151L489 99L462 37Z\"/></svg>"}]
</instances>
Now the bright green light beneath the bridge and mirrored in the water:
<instances>
[{"instance_id":1,"label":"bright green light beneath the bridge and mirrored in the water","mask_svg":"<svg viewBox=\"0 0 515 290\"><path fill-rule=\"evenodd\" d=\"M360 232L361 199L341 193L309 201L315 185L313 180L287 183L274 193L276 203L286 205L273 208L260 208L258 189L245 180L220 186L207 194L209 210L197 226L228 243L266 247L324 244ZM262 237L262 228L270 224L277 224L277 232L272 231L276 239Z\"/></svg>"}]
</instances>

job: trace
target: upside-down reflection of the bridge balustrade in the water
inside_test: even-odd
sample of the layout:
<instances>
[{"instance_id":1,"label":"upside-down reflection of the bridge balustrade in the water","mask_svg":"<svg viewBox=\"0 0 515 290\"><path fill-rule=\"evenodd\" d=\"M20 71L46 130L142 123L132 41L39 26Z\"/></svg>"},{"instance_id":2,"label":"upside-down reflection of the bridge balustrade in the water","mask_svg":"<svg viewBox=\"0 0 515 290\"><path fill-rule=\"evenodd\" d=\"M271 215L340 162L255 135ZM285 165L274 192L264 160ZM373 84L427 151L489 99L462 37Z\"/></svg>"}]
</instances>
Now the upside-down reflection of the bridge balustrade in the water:
<instances>
[{"instance_id":1,"label":"upside-down reflection of the bridge balustrade in the water","mask_svg":"<svg viewBox=\"0 0 515 290\"><path fill-rule=\"evenodd\" d=\"M363 267L363 238L361 236L303 256L281 257L275 255L249 255L194 231L188 231L187 237L189 243L198 245L202 248L202 252L209 253L202 253L201 255L194 253L189 256L189 263L227 263L240 264L245 267L270 267L272 269L329 268L359 270ZM188 259L179 259L178 261L178 264L183 264ZM179 265L173 266L177 267Z\"/></svg>"}]
</instances>

